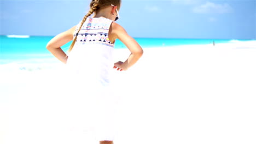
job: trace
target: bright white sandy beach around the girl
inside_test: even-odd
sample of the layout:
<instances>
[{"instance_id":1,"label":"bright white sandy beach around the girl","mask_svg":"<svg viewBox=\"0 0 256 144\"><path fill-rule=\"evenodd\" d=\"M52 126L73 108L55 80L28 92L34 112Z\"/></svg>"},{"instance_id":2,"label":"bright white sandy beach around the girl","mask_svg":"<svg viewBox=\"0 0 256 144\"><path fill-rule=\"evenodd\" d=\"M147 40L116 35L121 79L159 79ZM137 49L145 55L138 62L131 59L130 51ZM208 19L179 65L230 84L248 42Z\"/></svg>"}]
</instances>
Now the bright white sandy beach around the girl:
<instances>
[{"instance_id":1,"label":"bright white sandy beach around the girl","mask_svg":"<svg viewBox=\"0 0 256 144\"><path fill-rule=\"evenodd\" d=\"M115 50L125 61L128 49ZM63 95L65 65L0 72L0 143L98 143L79 98ZM54 66L53 66L54 67ZM115 144L256 143L256 41L144 49L114 71Z\"/></svg>"}]
</instances>

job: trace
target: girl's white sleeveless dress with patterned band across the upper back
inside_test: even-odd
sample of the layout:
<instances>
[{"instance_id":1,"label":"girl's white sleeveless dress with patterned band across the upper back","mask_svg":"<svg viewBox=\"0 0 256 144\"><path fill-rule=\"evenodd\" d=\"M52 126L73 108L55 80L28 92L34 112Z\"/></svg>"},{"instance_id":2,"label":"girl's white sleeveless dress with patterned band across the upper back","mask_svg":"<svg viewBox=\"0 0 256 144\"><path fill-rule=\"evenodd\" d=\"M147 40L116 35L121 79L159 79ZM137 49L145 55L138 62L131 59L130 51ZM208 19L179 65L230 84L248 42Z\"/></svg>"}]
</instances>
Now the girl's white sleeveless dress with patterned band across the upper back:
<instances>
[{"instance_id":1,"label":"girl's white sleeveless dress with patterned band across the upper back","mask_svg":"<svg viewBox=\"0 0 256 144\"><path fill-rule=\"evenodd\" d=\"M69 95L81 105L80 115L99 141L113 141L117 133L118 99L110 83L114 44L108 39L112 22L104 17L88 17L67 59ZM80 22L74 37L79 27Z\"/></svg>"}]
</instances>

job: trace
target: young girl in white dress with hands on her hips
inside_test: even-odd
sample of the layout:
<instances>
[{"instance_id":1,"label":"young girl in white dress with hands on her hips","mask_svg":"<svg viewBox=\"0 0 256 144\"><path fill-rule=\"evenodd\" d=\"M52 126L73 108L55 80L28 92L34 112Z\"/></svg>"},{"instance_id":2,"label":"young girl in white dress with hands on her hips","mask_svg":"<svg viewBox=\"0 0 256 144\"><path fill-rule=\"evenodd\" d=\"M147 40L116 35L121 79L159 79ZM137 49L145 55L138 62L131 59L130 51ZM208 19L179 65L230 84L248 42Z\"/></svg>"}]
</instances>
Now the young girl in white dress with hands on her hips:
<instances>
[{"instance_id":1,"label":"young girl in white dress with hands on her hips","mask_svg":"<svg viewBox=\"0 0 256 144\"><path fill-rule=\"evenodd\" d=\"M73 94L95 98L93 112L96 116L94 127L97 140L101 144L113 143L114 139L114 109L115 97L110 85L111 69L119 71L129 69L142 56L141 46L126 33L125 29L115 23L119 19L118 11L121 0L92 0L90 10L78 25L66 32L56 35L49 41L46 48L61 62L72 70L72 83L75 87ZM94 14L92 17L92 14ZM125 62L113 62L115 40L119 39L130 50L131 55ZM73 40L68 55L61 49ZM89 98L90 97L90 98ZM92 101L86 101L92 103Z\"/></svg>"}]
</instances>

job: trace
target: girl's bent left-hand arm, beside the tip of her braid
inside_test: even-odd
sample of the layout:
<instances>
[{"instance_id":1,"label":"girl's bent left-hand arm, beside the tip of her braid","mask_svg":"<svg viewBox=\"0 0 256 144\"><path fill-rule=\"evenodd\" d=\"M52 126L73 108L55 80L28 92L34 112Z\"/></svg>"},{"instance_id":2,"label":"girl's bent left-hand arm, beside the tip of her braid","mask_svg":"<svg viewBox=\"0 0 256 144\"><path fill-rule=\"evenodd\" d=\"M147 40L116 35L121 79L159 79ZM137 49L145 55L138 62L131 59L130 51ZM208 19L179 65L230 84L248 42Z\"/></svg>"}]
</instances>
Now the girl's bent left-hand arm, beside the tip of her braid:
<instances>
[{"instance_id":1,"label":"girl's bent left-hand arm, beside the tip of her braid","mask_svg":"<svg viewBox=\"0 0 256 144\"><path fill-rule=\"evenodd\" d=\"M61 62L67 62L68 56L66 53L61 49L62 45L65 45L69 41L73 40L73 33L75 31L76 26L68 29L66 32L60 33L56 35L53 39L49 41L46 45L46 49L49 50L53 55L59 59Z\"/></svg>"}]
</instances>

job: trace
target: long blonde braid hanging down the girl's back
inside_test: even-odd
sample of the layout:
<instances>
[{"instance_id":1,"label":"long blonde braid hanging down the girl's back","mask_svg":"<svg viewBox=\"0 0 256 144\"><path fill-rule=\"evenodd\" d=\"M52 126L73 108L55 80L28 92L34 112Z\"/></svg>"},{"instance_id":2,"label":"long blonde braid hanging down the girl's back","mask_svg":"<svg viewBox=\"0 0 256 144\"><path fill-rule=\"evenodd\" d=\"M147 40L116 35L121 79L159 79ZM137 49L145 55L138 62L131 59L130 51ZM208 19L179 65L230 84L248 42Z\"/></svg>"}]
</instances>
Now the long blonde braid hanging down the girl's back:
<instances>
[{"instance_id":1,"label":"long blonde braid hanging down the girl's back","mask_svg":"<svg viewBox=\"0 0 256 144\"><path fill-rule=\"evenodd\" d=\"M93 0L93 1L90 3L91 9L90 9L90 10L88 11L88 13L84 16L83 21L81 22L81 25L80 25L80 27L79 27L79 29L78 29L78 32L77 32L77 34L75 34L75 38L74 38L74 40L72 41L72 44L70 45L70 47L69 47L69 49L68 49L68 52L71 52L71 50L73 49L73 46L74 46L74 44L75 44L75 41L77 41L78 33L79 33L79 31L81 30L81 28L82 28L84 22L86 21L87 17L89 17L89 16L90 16L91 14L93 14L97 9L99 9L99 8L98 8L98 1L99 1L99 0Z\"/></svg>"}]
</instances>

